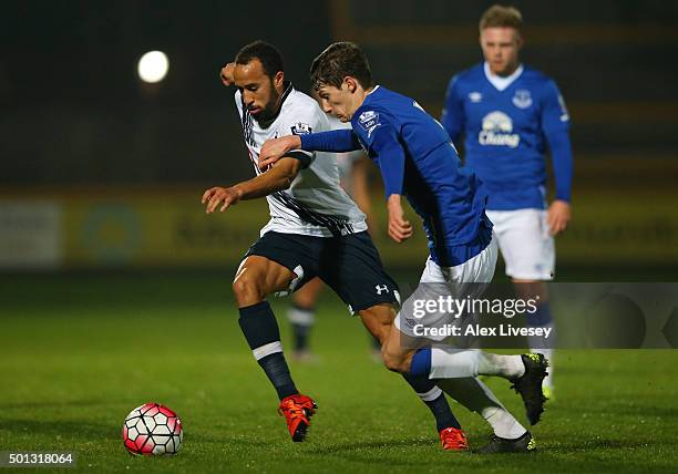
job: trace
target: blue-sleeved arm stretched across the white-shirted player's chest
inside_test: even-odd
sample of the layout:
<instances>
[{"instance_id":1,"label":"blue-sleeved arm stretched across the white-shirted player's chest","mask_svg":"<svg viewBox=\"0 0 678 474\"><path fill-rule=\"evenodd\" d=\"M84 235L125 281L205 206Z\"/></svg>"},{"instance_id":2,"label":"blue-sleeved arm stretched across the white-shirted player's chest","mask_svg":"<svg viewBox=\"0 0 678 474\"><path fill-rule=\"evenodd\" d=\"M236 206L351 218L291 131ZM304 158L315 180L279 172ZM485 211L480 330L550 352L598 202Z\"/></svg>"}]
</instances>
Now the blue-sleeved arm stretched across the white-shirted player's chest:
<instances>
[{"instance_id":1,"label":"blue-sleeved arm stretched across the white-shirted player's chest","mask_svg":"<svg viewBox=\"0 0 678 474\"><path fill-rule=\"evenodd\" d=\"M280 138L267 140L259 153L259 168L264 169L266 166L276 163L292 150L346 153L360 150L360 142L358 142L358 137L350 130L332 130L330 132L287 135Z\"/></svg>"}]
</instances>

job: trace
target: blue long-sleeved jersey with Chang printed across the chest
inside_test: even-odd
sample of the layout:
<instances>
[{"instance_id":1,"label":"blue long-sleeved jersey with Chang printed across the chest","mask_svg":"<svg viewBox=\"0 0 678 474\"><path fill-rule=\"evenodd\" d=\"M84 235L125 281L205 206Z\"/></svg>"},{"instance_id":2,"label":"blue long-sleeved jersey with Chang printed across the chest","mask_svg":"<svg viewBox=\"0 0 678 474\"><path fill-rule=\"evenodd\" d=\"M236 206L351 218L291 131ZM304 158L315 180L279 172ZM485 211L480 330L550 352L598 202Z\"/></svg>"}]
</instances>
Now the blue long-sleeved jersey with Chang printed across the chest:
<instances>
[{"instance_id":1,"label":"blue long-sleeved jersey with Chang printed across the chest","mask_svg":"<svg viewBox=\"0 0 678 474\"><path fill-rule=\"evenodd\" d=\"M504 90L479 64L450 81L442 124L453 142L464 134L465 164L487 186L489 209L544 208L548 143L556 198L569 202L569 116L555 82L530 68Z\"/></svg>"}]
</instances>

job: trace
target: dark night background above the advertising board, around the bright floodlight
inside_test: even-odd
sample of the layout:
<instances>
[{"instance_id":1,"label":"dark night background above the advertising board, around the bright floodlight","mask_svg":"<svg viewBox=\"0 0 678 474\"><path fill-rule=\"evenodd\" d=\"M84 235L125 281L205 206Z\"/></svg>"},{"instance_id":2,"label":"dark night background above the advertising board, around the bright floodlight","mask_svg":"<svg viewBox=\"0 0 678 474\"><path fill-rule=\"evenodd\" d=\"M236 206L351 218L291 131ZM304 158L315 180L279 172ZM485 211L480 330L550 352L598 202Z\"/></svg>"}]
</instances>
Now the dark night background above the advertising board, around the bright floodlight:
<instances>
[{"instance_id":1,"label":"dark night background above the advertising board, around the bright floodlight","mask_svg":"<svg viewBox=\"0 0 678 474\"><path fill-rule=\"evenodd\" d=\"M476 24L491 3L4 3L0 183L228 184L249 176L218 70L259 38L281 50L301 90L325 45L359 41L380 83L439 115L449 78L481 59ZM657 158L675 169L678 3L513 3L526 22L523 60L552 75L569 106L577 163L618 162L612 172L623 174L624 163ZM136 61L153 49L167 53L170 72L143 85Z\"/></svg>"}]
</instances>

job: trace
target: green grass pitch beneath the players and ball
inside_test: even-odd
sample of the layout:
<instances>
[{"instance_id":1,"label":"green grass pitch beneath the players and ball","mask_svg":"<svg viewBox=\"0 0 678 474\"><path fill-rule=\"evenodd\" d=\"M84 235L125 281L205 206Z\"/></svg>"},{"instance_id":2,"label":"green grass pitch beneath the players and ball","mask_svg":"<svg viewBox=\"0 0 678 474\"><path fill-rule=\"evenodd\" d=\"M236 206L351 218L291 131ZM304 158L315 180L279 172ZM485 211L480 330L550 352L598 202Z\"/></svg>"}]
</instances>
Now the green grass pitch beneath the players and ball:
<instances>
[{"instance_id":1,"label":"green grass pitch beneath the players and ball","mask_svg":"<svg viewBox=\"0 0 678 474\"><path fill-rule=\"evenodd\" d=\"M533 429L537 453L449 453L425 406L371 361L360 321L327 292L312 334L319 362L290 363L319 404L308 442L292 444L237 326L228 272L3 276L0 301L0 451L73 451L79 470L116 473L678 468L678 351L561 351L557 400ZM286 305L274 305L284 341ZM490 384L526 423L508 383ZM178 455L126 454L122 422L150 401L182 418ZM453 410L472 447L483 445L489 426Z\"/></svg>"}]
</instances>

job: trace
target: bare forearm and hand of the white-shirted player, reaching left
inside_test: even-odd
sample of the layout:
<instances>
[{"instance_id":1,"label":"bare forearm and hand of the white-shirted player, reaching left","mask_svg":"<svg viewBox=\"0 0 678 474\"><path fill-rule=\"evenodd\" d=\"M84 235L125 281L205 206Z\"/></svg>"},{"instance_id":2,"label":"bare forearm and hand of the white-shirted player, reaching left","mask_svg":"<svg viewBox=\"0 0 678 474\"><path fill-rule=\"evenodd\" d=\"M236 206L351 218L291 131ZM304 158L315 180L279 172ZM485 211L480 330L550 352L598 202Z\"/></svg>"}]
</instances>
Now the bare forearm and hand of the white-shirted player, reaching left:
<instances>
[{"instance_id":1,"label":"bare forearm and hand of the white-shirted player, reaching left","mask_svg":"<svg viewBox=\"0 0 678 474\"><path fill-rule=\"evenodd\" d=\"M203 204L206 205L205 212L212 214L220 206L219 212L223 213L240 200L256 199L287 189L300 169L301 162L285 157L276 163L273 168L253 179L238 183L232 187L212 187L203 193Z\"/></svg>"}]
</instances>

